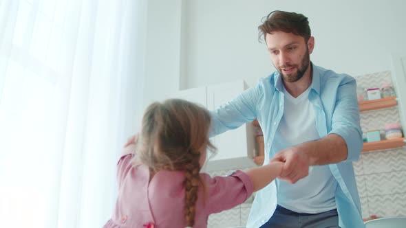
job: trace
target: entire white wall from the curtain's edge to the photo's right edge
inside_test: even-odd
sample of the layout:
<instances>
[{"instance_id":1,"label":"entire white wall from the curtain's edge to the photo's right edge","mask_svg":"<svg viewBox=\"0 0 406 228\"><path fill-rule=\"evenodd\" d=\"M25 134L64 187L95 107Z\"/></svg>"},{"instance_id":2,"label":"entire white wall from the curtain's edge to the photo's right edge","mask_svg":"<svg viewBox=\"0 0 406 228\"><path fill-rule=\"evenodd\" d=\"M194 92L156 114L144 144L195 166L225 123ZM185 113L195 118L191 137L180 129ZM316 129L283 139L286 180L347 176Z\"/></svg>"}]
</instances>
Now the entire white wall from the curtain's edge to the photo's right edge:
<instances>
[{"instance_id":1,"label":"entire white wall from the curtain's edge to the photo's right edge","mask_svg":"<svg viewBox=\"0 0 406 228\"><path fill-rule=\"evenodd\" d=\"M406 53L405 9L403 0L150 0L145 102L179 87L253 86L268 76L274 68L257 26L272 10L308 16L316 65L352 76L390 70L390 54Z\"/></svg>"}]
</instances>

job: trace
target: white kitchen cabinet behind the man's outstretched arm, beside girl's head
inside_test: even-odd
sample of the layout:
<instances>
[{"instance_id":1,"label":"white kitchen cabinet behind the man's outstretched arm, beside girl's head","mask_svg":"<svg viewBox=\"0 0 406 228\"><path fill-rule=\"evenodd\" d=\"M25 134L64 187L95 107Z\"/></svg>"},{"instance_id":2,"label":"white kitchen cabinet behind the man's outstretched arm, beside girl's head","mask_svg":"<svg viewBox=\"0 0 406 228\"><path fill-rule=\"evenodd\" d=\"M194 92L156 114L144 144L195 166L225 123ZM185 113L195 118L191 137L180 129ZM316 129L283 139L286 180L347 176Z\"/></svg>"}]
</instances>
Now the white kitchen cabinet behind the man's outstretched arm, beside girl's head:
<instances>
[{"instance_id":1,"label":"white kitchen cabinet behind the man's outstretched arm, beside girl's head","mask_svg":"<svg viewBox=\"0 0 406 228\"><path fill-rule=\"evenodd\" d=\"M213 110L231 101L245 89L247 89L246 83L243 80L237 80L209 87L186 89L177 93L175 97L197 102ZM217 155L206 162L204 169L213 171L256 166L253 162L254 139L254 128L251 123L211 138L212 143L217 147Z\"/></svg>"}]
</instances>

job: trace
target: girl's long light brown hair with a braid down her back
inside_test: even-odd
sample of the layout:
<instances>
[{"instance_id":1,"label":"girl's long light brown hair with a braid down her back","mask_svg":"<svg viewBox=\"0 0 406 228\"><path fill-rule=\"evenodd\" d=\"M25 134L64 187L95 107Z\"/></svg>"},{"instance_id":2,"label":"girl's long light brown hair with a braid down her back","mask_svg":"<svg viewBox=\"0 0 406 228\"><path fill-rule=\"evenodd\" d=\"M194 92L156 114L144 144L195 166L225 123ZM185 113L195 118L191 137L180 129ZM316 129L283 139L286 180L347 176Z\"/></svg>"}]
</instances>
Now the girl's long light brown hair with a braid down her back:
<instances>
[{"instance_id":1,"label":"girl's long light brown hair with a braid down her back","mask_svg":"<svg viewBox=\"0 0 406 228\"><path fill-rule=\"evenodd\" d=\"M185 173L184 218L192 227L195 222L197 190L200 179L200 153L209 141L209 111L186 100L170 99L151 104L142 118L136 162L151 172L177 170Z\"/></svg>"}]
</instances>

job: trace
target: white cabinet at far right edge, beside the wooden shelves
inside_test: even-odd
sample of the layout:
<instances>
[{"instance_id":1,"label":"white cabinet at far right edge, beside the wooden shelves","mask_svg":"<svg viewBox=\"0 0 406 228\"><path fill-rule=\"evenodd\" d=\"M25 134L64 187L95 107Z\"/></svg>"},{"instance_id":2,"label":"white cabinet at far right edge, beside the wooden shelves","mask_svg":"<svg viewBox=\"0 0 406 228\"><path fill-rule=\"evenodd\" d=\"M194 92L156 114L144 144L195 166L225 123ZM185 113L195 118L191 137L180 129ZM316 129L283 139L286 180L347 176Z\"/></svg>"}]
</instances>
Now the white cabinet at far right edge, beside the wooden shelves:
<instances>
[{"instance_id":1,"label":"white cabinet at far right edge, beside the wooden shelves","mask_svg":"<svg viewBox=\"0 0 406 228\"><path fill-rule=\"evenodd\" d=\"M398 97L398 107L400 122L403 130L406 126L406 56L392 56L392 78L396 96Z\"/></svg>"}]
</instances>

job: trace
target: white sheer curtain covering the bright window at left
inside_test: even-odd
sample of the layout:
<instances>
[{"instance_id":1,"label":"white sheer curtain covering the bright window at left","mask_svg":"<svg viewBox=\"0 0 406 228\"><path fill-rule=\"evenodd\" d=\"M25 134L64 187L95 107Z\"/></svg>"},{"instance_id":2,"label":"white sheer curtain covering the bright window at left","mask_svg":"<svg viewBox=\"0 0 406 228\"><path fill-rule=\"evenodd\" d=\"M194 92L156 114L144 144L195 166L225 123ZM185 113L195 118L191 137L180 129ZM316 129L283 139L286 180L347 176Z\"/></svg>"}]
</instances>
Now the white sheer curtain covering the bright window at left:
<instances>
[{"instance_id":1,"label":"white sheer curtain covering the bright window at left","mask_svg":"<svg viewBox=\"0 0 406 228\"><path fill-rule=\"evenodd\" d=\"M101 227L142 111L145 0L0 1L0 227Z\"/></svg>"}]
</instances>

